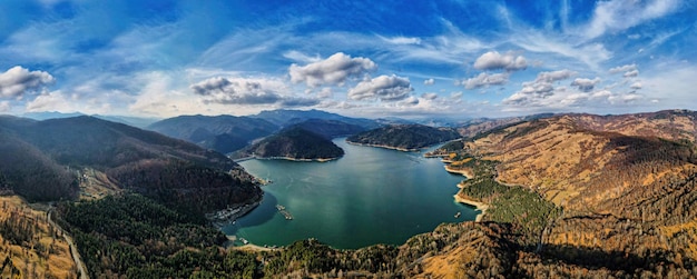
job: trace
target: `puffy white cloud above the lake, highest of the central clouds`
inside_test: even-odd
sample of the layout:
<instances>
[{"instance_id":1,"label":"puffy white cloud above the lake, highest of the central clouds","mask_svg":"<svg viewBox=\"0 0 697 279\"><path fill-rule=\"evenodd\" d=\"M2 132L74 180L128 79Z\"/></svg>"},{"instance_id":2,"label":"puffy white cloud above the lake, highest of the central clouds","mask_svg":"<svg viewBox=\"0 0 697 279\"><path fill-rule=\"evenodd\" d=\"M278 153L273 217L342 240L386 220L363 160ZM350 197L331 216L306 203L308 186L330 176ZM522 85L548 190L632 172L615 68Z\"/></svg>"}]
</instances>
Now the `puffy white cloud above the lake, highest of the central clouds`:
<instances>
[{"instance_id":1,"label":"puffy white cloud above the lake, highest of the central clouds","mask_svg":"<svg viewBox=\"0 0 697 279\"><path fill-rule=\"evenodd\" d=\"M351 58L336 52L325 60L306 66L291 64L288 73L294 83L305 82L308 87L322 84L342 84L350 77L355 77L376 69L375 62L367 58Z\"/></svg>"}]
</instances>

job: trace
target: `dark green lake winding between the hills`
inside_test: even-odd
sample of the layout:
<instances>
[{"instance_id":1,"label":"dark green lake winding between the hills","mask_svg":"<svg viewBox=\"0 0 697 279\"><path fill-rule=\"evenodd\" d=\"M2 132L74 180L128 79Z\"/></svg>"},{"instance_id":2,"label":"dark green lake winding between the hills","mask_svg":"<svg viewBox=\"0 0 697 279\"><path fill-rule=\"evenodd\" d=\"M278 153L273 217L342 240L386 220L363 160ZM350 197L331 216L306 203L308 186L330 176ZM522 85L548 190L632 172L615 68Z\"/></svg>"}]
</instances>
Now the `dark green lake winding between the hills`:
<instances>
[{"instance_id":1,"label":"dark green lake winding between the hills","mask_svg":"<svg viewBox=\"0 0 697 279\"><path fill-rule=\"evenodd\" d=\"M264 200L256 209L223 231L259 246L315 238L355 249L402 245L442 222L474 220L478 211L453 199L464 177L446 172L438 158L424 158L428 150L353 146L345 138L334 143L345 151L334 161L240 162L249 173L273 182L262 187ZM277 205L293 219L286 220Z\"/></svg>"}]
</instances>

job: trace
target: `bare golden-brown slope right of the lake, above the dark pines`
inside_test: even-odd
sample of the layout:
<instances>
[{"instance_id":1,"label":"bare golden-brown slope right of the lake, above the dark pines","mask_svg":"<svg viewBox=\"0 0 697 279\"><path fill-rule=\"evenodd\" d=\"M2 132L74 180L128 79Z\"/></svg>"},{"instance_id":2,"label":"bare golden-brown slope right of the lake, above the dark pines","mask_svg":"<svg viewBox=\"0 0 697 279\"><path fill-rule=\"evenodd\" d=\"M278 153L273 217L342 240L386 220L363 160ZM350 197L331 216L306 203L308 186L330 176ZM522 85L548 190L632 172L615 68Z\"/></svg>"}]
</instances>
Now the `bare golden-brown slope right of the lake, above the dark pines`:
<instances>
[{"instance_id":1,"label":"bare golden-brown slope right of the lake, above the dark pines","mask_svg":"<svg viewBox=\"0 0 697 279\"><path fill-rule=\"evenodd\" d=\"M638 116L534 120L468 142L465 149L499 161L499 181L529 187L567 210L621 211L622 203L666 193L655 188L685 180L696 168L695 148L686 141L696 134L691 114L673 118L680 124Z\"/></svg>"}]
</instances>

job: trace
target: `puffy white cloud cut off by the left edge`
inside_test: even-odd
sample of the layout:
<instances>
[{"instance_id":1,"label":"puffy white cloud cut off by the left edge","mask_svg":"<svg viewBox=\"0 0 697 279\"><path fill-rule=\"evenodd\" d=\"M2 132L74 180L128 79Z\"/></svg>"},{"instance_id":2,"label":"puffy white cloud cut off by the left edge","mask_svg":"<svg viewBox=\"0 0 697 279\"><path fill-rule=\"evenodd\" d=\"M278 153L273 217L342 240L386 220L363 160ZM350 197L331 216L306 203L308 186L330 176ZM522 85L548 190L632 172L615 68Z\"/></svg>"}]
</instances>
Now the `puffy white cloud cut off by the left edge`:
<instances>
[{"instance_id":1,"label":"puffy white cloud cut off by the left edge","mask_svg":"<svg viewBox=\"0 0 697 279\"><path fill-rule=\"evenodd\" d=\"M21 98L28 91L37 91L53 82L45 71L29 71L20 66L0 73L0 98Z\"/></svg>"}]
</instances>

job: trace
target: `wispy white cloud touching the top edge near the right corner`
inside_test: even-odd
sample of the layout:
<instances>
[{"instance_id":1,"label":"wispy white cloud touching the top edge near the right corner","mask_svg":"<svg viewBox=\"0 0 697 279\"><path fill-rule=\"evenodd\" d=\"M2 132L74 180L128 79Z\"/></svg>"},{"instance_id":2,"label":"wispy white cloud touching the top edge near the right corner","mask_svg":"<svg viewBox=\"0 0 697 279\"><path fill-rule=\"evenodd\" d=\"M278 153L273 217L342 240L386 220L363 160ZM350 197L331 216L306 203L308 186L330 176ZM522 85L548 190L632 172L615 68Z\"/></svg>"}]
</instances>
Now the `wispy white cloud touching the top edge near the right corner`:
<instances>
[{"instance_id":1,"label":"wispy white cloud touching the top edge near the right corner","mask_svg":"<svg viewBox=\"0 0 697 279\"><path fill-rule=\"evenodd\" d=\"M669 14L678 10L679 4L678 0L598 1L590 22L581 30L585 30L585 37L589 39L607 32L622 31Z\"/></svg>"}]
</instances>

